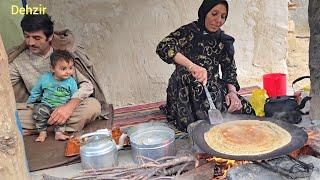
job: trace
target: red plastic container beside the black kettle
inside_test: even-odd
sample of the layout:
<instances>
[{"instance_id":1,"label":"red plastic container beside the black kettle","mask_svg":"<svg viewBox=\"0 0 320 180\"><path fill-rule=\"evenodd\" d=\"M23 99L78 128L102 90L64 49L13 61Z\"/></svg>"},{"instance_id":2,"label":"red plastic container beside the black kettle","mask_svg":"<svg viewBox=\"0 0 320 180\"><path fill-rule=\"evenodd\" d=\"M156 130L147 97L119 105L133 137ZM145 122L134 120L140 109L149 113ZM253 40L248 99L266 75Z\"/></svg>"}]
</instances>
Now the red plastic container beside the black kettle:
<instances>
[{"instance_id":1,"label":"red plastic container beside the black kettle","mask_svg":"<svg viewBox=\"0 0 320 180\"><path fill-rule=\"evenodd\" d=\"M263 75L263 88L269 97L285 96L287 94L287 76L282 73Z\"/></svg>"}]
</instances>

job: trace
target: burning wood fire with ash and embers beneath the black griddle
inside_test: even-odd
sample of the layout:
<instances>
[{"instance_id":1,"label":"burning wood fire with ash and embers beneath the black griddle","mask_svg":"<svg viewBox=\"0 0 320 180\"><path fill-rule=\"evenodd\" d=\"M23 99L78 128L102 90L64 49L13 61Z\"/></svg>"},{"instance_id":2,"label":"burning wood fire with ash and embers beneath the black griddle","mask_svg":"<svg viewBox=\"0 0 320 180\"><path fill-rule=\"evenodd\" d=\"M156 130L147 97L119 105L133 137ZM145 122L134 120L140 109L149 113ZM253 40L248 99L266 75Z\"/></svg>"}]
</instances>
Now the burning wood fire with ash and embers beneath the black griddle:
<instances>
[{"instance_id":1,"label":"burning wood fire with ash and embers beneath the black griddle","mask_svg":"<svg viewBox=\"0 0 320 180\"><path fill-rule=\"evenodd\" d=\"M297 129L298 130L298 129ZM301 130L301 129L300 129ZM320 131L318 127L305 127L304 130L308 134L308 140L307 142L302 146L303 142L306 140L306 136L304 132L301 132L301 138L298 137L297 140L299 140L296 144L299 145L299 147L302 146L302 148L290 153L290 154L283 154L283 156L280 156L279 154L275 157L265 157L263 160L256 160L256 161L237 161L237 160L229 160L229 159L223 159L218 157L213 157L212 155L208 155L206 153L197 153L200 155L198 156L198 160L202 160L203 164L211 164L210 166L206 166L206 169L202 169L203 171L210 172L210 178L212 179L226 179L227 175L230 175L231 177L234 177L234 173L239 173L243 170L247 171L247 168L253 168L252 173L255 173L255 169L257 165L260 169L263 169L263 172L268 174L270 171L283 177L308 177L310 176L311 172L313 171L313 164L312 163L305 163L304 161L301 161L300 158L303 155L311 155L314 157L319 157L319 153L315 152L317 151L320 143ZM300 131L299 131L300 133ZM301 141L303 140L303 142ZM300 142L300 143L299 143ZM295 147L296 147L295 146ZM294 148L291 147L291 149L288 150L294 150ZM202 157L201 157L202 156ZM232 158L233 159L233 158ZM303 159L305 160L305 159ZM200 161L201 162L201 161ZM309 161L307 161L309 162ZM244 164L250 164L249 166L240 167ZM209 167L209 168L208 168ZM234 167L239 167L234 169ZM251 170L251 169L250 169ZM228 178L229 178L228 175ZM258 176L258 175L257 175Z\"/></svg>"}]
</instances>

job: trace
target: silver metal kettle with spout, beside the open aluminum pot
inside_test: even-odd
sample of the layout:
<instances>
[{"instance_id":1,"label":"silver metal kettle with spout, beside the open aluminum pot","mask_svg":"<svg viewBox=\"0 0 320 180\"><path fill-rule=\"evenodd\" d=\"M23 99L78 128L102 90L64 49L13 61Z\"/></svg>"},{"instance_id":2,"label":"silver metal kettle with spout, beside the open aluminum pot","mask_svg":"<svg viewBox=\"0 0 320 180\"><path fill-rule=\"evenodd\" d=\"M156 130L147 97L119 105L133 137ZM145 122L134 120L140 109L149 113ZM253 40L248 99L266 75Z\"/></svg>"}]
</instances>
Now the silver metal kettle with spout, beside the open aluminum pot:
<instances>
[{"instance_id":1,"label":"silver metal kettle with spout, beside the open aluminum pot","mask_svg":"<svg viewBox=\"0 0 320 180\"><path fill-rule=\"evenodd\" d=\"M118 165L118 149L124 144L126 134L122 134L119 145L112 139L108 129L101 129L81 136L80 157L84 169L101 169Z\"/></svg>"}]
</instances>

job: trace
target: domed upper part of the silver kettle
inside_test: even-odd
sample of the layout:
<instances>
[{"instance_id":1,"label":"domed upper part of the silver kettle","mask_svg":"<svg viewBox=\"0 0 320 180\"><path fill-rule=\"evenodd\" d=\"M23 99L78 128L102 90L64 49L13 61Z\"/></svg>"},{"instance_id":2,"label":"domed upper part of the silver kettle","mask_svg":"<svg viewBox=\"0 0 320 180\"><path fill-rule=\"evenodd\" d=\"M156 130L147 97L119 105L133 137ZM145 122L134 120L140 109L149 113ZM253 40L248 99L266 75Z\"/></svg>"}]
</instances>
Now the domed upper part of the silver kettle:
<instances>
[{"instance_id":1,"label":"domed upper part of the silver kettle","mask_svg":"<svg viewBox=\"0 0 320 180\"><path fill-rule=\"evenodd\" d=\"M84 156L99 156L117 150L115 143L106 137L93 136L81 145L80 153Z\"/></svg>"}]
</instances>

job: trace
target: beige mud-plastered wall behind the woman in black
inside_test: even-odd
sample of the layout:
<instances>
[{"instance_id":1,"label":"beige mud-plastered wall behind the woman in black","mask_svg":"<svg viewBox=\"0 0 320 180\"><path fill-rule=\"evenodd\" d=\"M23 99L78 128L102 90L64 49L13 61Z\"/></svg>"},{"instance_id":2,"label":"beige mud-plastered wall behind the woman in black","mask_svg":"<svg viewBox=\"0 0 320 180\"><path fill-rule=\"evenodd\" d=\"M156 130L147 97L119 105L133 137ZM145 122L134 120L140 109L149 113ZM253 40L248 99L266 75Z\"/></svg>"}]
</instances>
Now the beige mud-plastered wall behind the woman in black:
<instances>
[{"instance_id":1,"label":"beige mud-plastered wall behind the woman in black","mask_svg":"<svg viewBox=\"0 0 320 180\"><path fill-rule=\"evenodd\" d=\"M107 99L116 107L166 99L174 69L155 53L157 43L197 19L201 0L31 0L70 28L92 58ZM264 72L287 72L286 1L232 0L223 27L236 38L240 84ZM60 26L60 25L59 25Z\"/></svg>"}]
</instances>

